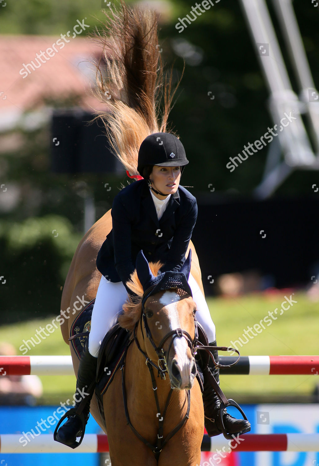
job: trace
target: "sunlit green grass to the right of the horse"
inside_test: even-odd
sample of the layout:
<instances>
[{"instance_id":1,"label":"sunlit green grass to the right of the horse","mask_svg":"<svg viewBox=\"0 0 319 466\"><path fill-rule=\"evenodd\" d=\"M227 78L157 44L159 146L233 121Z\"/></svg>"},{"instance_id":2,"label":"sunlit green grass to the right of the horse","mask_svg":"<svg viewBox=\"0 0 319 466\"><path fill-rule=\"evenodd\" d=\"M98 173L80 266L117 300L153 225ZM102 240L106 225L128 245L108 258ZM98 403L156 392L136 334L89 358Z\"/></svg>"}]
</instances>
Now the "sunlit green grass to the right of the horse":
<instances>
[{"instance_id":1,"label":"sunlit green grass to the right of the horse","mask_svg":"<svg viewBox=\"0 0 319 466\"><path fill-rule=\"evenodd\" d=\"M318 355L319 313L318 304L309 301L305 293L296 293L298 301L279 315L281 302L290 293L279 291L275 295L247 295L241 298L208 300L210 313L216 325L217 343L229 346L243 335L244 329L259 323L268 311L278 308L278 319L262 333L249 340L242 348L242 356L249 355ZM287 307L287 304L284 304ZM276 317L276 315L274 314ZM256 333L256 332L255 332ZM243 338L243 341L245 339ZM224 353L226 354L226 353ZM318 384L313 376L222 376L221 388L228 396L251 395L310 395Z\"/></svg>"}]
</instances>

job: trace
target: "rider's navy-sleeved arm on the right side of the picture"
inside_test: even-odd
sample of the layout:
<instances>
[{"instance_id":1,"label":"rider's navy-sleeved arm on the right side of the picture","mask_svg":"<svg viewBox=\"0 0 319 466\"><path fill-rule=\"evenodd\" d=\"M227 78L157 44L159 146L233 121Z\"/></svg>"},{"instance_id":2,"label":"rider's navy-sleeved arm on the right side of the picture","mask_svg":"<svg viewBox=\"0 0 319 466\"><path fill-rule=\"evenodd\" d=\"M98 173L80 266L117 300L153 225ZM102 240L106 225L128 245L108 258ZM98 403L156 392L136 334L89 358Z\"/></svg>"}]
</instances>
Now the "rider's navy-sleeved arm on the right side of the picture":
<instances>
[{"instance_id":1,"label":"rider's navy-sleeved arm on the right side of the picture","mask_svg":"<svg viewBox=\"0 0 319 466\"><path fill-rule=\"evenodd\" d=\"M178 272L183 265L184 256L196 223L197 211L197 202L194 198L190 205L190 209L183 216L179 226L177 226L175 230L173 240L170 245L170 251L167 254L167 260L164 266L161 267L161 272L167 272L168 270Z\"/></svg>"}]
</instances>

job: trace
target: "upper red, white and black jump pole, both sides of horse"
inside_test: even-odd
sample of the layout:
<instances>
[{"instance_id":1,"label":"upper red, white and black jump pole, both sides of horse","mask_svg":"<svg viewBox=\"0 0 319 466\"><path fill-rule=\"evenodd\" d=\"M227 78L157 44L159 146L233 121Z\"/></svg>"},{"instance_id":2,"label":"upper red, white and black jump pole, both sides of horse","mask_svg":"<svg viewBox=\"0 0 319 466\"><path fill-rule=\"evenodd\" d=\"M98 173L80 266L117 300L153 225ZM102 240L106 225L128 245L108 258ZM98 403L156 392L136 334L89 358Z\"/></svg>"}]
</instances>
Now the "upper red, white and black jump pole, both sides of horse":
<instances>
[{"instance_id":1,"label":"upper red, white and black jump pole, both sides of horse","mask_svg":"<svg viewBox=\"0 0 319 466\"><path fill-rule=\"evenodd\" d=\"M231 364L236 356L219 356ZM235 366L221 369L235 375L318 375L319 356L241 356ZM0 356L0 375L73 375L71 356Z\"/></svg>"}]
</instances>

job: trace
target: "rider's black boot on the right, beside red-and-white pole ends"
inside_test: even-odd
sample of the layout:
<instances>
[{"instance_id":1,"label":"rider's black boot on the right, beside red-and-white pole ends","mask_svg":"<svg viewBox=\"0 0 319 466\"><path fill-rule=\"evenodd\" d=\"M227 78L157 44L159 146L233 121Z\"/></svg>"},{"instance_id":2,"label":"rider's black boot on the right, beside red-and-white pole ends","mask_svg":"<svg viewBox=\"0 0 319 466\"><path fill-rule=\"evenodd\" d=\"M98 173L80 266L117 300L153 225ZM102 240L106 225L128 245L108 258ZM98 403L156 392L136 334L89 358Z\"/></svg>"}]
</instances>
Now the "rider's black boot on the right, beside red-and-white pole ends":
<instances>
[{"instance_id":1,"label":"rider's black boot on the right, beside red-and-white pole ends","mask_svg":"<svg viewBox=\"0 0 319 466\"><path fill-rule=\"evenodd\" d=\"M210 346L217 346L216 340L213 343L209 344ZM218 363L218 351L217 349L214 349L211 351L216 363ZM217 384L219 385L219 368L216 368L215 364L213 363L213 360L209 359L208 362L208 369L210 369L210 372L214 376ZM208 381L206 375L206 370L204 370L204 393L203 393L203 402L204 402L204 424L206 431L210 437L213 437L214 435L219 435L222 433L222 425L220 422L219 418L219 406L220 406L220 400L217 397L217 394L211 384ZM224 421L224 427L226 432L232 434L232 433L238 433L238 432L249 432L250 429L250 422L246 421L244 419L235 419L233 418L230 414L228 414L227 409L224 409L224 414L223 414L223 421Z\"/></svg>"}]
</instances>

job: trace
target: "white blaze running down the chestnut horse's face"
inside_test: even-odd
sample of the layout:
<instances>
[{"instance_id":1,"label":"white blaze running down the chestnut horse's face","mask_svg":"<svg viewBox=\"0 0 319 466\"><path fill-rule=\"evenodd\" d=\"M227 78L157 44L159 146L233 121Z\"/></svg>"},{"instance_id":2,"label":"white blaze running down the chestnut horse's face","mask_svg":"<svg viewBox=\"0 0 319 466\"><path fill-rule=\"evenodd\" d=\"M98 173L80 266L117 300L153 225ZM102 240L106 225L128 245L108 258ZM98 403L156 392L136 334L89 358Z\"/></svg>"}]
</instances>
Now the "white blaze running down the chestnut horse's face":
<instances>
[{"instance_id":1,"label":"white blaze running down the chestnut horse's face","mask_svg":"<svg viewBox=\"0 0 319 466\"><path fill-rule=\"evenodd\" d=\"M179 315L176 306L177 302L181 299L181 296L177 295L173 291L165 291L163 296L159 299L159 302L163 304L163 306L168 310L170 330L181 328L181 323L179 320ZM174 338L173 346L176 353L176 363L180 370L183 384L187 386L190 383L190 370L193 358L189 359L189 357L187 356L188 344L186 338Z\"/></svg>"}]
</instances>

